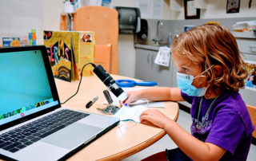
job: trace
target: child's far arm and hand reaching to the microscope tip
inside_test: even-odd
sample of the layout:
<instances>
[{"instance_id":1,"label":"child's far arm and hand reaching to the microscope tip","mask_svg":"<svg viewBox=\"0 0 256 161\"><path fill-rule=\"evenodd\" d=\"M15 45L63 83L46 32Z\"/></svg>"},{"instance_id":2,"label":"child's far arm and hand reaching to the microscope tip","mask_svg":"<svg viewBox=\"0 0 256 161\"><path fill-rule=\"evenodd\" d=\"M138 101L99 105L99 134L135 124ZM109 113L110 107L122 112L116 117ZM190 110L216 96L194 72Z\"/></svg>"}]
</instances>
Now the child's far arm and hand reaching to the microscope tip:
<instances>
[{"instance_id":1,"label":"child's far arm and hand reaching to the microscope tip","mask_svg":"<svg viewBox=\"0 0 256 161\"><path fill-rule=\"evenodd\" d=\"M181 95L181 90L179 88L166 88L166 87L156 87L156 88L146 88L138 91L126 92L128 99L123 104L130 104L135 100L146 98L147 100L172 100L172 101L184 101Z\"/></svg>"}]
</instances>

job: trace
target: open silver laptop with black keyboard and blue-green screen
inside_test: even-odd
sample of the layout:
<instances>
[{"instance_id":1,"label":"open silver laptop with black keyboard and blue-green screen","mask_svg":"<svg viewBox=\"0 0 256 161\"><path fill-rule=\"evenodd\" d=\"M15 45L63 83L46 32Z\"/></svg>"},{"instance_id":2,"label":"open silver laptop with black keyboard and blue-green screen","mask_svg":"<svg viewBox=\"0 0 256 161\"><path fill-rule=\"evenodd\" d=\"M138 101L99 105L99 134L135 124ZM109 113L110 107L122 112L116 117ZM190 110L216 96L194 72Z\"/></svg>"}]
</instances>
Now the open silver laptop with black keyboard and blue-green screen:
<instances>
[{"instance_id":1,"label":"open silver laptop with black keyboard and blue-green screen","mask_svg":"<svg viewBox=\"0 0 256 161\"><path fill-rule=\"evenodd\" d=\"M61 107L45 46L0 48L0 158L64 160L119 121Z\"/></svg>"}]
</instances>

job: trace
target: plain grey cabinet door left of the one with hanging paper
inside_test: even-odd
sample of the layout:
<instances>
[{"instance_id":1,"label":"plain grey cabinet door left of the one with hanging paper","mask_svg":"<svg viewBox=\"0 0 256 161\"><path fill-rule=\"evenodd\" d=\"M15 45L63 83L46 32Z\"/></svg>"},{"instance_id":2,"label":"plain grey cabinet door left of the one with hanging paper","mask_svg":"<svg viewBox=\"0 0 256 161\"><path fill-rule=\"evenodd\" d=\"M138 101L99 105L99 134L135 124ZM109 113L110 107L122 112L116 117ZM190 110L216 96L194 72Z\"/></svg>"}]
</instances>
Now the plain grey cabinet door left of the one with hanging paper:
<instances>
[{"instance_id":1,"label":"plain grey cabinet door left of the one with hanging paper","mask_svg":"<svg viewBox=\"0 0 256 161\"><path fill-rule=\"evenodd\" d=\"M142 81L151 81L150 50L136 49L135 78Z\"/></svg>"}]
</instances>

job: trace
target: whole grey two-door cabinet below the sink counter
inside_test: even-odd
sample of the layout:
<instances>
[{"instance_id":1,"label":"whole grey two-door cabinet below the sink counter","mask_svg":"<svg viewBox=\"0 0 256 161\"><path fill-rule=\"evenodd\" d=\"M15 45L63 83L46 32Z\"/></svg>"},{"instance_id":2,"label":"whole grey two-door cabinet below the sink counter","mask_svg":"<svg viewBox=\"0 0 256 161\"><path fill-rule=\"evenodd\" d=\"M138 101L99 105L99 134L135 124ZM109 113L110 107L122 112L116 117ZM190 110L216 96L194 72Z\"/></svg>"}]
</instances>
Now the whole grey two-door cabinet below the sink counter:
<instances>
[{"instance_id":1,"label":"whole grey two-door cabinet below the sink counter","mask_svg":"<svg viewBox=\"0 0 256 161\"><path fill-rule=\"evenodd\" d=\"M159 87L172 86L172 61L169 67L154 64L158 51L136 48L135 78L158 82ZM176 79L176 77L175 77Z\"/></svg>"}]
</instances>

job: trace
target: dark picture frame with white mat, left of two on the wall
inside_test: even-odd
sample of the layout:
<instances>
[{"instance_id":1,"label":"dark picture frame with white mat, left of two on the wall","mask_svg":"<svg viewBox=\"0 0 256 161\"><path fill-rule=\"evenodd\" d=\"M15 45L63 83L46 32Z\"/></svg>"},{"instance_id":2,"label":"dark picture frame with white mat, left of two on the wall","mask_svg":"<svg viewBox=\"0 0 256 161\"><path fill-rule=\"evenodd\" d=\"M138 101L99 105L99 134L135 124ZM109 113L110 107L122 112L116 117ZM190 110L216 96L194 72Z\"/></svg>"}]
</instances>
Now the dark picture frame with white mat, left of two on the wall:
<instances>
[{"instance_id":1,"label":"dark picture frame with white mat, left of two on the wall","mask_svg":"<svg viewBox=\"0 0 256 161\"><path fill-rule=\"evenodd\" d=\"M200 9L194 8L194 0L184 0L185 19L200 19Z\"/></svg>"}]
</instances>

